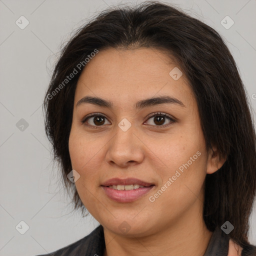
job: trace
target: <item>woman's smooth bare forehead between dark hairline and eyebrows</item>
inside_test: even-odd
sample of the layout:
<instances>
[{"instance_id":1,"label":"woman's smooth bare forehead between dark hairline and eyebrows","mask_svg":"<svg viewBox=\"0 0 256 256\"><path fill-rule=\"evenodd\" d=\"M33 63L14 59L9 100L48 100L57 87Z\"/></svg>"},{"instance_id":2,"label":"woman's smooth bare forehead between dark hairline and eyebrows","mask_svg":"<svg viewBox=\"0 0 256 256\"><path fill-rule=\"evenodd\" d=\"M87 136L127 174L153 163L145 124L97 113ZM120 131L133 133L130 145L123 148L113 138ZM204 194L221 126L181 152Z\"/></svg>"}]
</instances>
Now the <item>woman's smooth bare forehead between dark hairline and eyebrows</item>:
<instances>
[{"instance_id":1,"label":"woman's smooth bare forehead between dark hairline and eyebrows","mask_svg":"<svg viewBox=\"0 0 256 256\"><path fill-rule=\"evenodd\" d=\"M91 95L114 98L121 104L157 94L170 95L181 101L193 100L190 86L181 71L164 51L158 49L99 50L78 79L75 101ZM173 79L178 77L173 73L181 76Z\"/></svg>"}]
</instances>

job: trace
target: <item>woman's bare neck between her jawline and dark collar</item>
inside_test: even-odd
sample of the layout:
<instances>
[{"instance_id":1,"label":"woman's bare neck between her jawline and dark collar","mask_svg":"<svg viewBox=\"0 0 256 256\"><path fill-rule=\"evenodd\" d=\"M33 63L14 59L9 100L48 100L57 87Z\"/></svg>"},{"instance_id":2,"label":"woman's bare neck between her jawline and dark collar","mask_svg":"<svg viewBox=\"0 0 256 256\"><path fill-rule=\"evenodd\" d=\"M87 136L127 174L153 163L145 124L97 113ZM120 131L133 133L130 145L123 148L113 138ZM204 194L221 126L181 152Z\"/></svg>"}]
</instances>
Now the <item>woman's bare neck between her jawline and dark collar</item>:
<instances>
[{"instance_id":1,"label":"woman's bare neck between her jawline and dark collar","mask_svg":"<svg viewBox=\"0 0 256 256\"><path fill-rule=\"evenodd\" d=\"M198 205L197 205L198 206ZM202 219L202 209L189 209L160 231L147 236L126 237L104 228L104 256L148 256L152 255L190 255L203 256L209 243L210 232ZM201 216L201 217L199 217Z\"/></svg>"}]
</instances>

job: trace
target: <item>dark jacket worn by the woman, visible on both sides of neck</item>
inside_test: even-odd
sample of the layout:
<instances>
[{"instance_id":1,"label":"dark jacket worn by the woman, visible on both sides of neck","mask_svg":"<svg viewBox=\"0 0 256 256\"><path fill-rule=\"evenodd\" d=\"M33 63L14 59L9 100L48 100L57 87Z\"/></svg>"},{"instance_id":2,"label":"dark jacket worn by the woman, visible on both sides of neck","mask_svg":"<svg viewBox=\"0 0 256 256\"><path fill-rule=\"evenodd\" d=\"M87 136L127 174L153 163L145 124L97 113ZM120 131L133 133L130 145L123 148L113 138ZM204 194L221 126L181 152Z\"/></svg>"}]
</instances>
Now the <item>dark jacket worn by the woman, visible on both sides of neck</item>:
<instances>
[{"instance_id":1,"label":"dark jacket worn by the woman, visible on both sides of neck","mask_svg":"<svg viewBox=\"0 0 256 256\"><path fill-rule=\"evenodd\" d=\"M220 229L213 232L203 256L227 256L229 238ZM96 227L90 234L49 254L37 256L103 256L105 248L102 225ZM256 247L243 247L241 256L256 256Z\"/></svg>"}]
</instances>

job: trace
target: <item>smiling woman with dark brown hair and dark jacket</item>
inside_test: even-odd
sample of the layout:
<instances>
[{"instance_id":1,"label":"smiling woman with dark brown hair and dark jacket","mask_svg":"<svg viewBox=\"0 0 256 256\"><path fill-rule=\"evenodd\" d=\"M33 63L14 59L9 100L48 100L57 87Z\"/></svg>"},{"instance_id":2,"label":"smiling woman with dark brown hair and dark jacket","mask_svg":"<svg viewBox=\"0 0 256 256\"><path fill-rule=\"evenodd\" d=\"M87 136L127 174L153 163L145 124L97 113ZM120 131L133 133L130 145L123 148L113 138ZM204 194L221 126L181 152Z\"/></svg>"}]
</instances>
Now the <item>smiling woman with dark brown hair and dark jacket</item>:
<instances>
[{"instance_id":1,"label":"smiling woman with dark brown hair and dark jacket","mask_svg":"<svg viewBox=\"0 0 256 256\"><path fill-rule=\"evenodd\" d=\"M62 50L44 107L74 209L100 223L51 255L256 255L255 131L214 29L159 2L105 10Z\"/></svg>"}]
</instances>

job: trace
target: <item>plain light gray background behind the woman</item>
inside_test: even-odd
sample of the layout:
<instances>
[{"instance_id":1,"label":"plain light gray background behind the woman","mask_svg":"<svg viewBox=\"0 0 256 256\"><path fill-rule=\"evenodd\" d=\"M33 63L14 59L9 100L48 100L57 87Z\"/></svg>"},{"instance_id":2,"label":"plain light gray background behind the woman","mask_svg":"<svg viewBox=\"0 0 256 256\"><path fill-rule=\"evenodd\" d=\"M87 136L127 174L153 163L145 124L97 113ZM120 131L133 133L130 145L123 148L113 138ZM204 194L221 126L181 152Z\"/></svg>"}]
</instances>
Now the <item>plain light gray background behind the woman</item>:
<instances>
[{"instance_id":1,"label":"plain light gray background behind the woman","mask_svg":"<svg viewBox=\"0 0 256 256\"><path fill-rule=\"evenodd\" d=\"M256 1L165 2L183 8L224 37L254 111ZM127 1L0 0L0 255L51 252L80 239L98 224L91 216L70 213L71 198L60 186L60 174L52 164L41 104L61 45L73 29L117 3ZM29 21L24 29L15 23L21 15ZM226 15L234 21L229 29L220 23ZM19 126L21 118L27 127ZM18 121L21 124L16 125ZM15 229L21 220L29 226L24 234ZM256 244L255 207L249 240Z\"/></svg>"}]
</instances>

